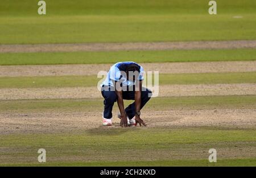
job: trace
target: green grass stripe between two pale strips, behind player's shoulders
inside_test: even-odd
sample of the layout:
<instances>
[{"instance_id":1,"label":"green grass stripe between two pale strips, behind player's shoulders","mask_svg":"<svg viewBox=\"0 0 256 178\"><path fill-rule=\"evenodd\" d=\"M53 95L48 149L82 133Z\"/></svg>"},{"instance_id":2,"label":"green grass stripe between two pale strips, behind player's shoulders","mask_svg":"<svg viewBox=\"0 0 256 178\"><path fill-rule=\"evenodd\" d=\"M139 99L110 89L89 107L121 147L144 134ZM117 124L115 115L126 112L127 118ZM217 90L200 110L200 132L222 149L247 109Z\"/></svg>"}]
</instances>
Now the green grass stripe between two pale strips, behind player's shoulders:
<instances>
[{"instance_id":1,"label":"green grass stripe between two pale strips, behind player's shoulders","mask_svg":"<svg viewBox=\"0 0 256 178\"><path fill-rule=\"evenodd\" d=\"M159 74L159 84L239 84L255 83L255 78L256 72ZM96 86L100 80L94 75L0 77L0 88Z\"/></svg>"}]
</instances>

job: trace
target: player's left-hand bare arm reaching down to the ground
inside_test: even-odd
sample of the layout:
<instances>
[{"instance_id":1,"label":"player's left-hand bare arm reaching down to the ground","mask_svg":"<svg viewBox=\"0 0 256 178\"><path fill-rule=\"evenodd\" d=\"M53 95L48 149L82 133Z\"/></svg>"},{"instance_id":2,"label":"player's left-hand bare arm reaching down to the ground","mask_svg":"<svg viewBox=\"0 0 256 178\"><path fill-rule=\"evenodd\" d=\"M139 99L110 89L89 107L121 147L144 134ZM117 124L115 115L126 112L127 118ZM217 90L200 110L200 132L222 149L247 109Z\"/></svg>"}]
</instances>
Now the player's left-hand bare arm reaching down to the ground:
<instances>
[{"instance_id":1,"label":"player's left-hand bare arm reaching down to the ground","mask_svg":"<svg viewBox=\"0 0 256 178\"><path fill-rule=\"evenodd\" d=\"M119 85L118 81L114 82L115 84L115 93L117 94L117 105L119 108L119 111L121 113L121 122L120 126L125 126L127 127L127 118L126 118L126 113L125 113L125 107L123 105L123 92L121 89L121 86Z\"/></svg>"}]
</instances>

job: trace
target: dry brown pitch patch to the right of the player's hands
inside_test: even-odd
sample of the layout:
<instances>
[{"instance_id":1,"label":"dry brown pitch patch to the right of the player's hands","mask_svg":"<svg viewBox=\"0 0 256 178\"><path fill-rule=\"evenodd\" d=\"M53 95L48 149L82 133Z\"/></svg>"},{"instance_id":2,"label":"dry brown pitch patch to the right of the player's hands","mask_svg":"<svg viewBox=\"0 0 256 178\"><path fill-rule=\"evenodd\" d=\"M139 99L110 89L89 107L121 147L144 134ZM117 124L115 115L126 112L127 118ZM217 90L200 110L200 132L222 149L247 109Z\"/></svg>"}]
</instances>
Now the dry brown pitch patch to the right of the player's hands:
<instances>
[{"instance_id":1,"label":"dry brown pitch patch to the right of the player's hands","mask_svg":"<svg viewBox=\"0 0 256 178\"><path fill-rule=\"evenodd\" d=\"M149 112L149 113L148 113ZM256 109L209 109L148 111L151 127L256 126Z\"/></svg>"}]
</instances>

